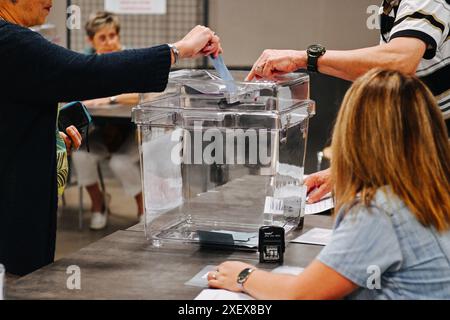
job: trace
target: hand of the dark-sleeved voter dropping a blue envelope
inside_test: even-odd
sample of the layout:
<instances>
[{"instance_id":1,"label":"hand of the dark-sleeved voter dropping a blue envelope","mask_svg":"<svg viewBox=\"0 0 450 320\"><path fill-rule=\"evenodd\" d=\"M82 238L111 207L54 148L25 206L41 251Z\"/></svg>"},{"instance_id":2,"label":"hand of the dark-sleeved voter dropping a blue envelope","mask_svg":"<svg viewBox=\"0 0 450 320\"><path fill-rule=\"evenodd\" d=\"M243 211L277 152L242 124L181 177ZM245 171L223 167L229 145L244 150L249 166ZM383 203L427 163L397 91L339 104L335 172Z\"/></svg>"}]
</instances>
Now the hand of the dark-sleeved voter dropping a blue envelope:
<instances>
[{"instance_id":1,"label":"hand of the dark-sleeved voter dropping a blue envelope","mask_svg":"<svg viewBox=\"0 0 450 320\"><path fill-rule=\"evenodd\" d=\"M197 58L222 53L220 38L205 26L194 27L182 40L174 43L179 51L179 58Z\"/></svg>"}]
</instances>

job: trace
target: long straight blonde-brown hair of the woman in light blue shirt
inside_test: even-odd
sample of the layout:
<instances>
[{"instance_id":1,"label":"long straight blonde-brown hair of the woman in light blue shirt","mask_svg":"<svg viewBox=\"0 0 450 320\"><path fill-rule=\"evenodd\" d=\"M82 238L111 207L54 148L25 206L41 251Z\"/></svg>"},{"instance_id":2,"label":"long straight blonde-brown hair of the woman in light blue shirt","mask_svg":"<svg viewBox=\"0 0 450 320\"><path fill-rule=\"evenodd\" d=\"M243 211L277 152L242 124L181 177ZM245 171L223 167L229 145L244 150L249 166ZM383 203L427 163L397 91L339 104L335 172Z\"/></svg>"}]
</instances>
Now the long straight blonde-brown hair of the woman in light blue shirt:
<instances>
[{"instance_id":1,"label":"long straight blonde-brown hair of the woman in light blue shirt","mask_svg":"<svg viewBox=\"0 0 450 320\"><path fill-rule=\"evenodd\" d=\"M436 100L416 77L373 70L345 95L333 133L336 211L390 186L424 226L450 228L450 146Z\"/></svg>"}]
</instances>

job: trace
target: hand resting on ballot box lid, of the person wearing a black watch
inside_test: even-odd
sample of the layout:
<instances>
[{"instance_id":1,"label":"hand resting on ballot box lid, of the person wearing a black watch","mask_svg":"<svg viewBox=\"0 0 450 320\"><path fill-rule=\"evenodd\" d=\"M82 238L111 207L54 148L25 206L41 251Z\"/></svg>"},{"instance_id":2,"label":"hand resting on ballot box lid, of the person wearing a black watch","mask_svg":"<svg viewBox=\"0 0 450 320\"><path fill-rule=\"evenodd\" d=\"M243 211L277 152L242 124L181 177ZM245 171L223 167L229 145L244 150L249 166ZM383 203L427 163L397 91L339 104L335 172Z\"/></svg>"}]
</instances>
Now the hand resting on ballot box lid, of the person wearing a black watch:
<instances>
[{"instance_id":1,"label":"hand resting on ballot box lid, of the person wearing a black watch","mask_svg":"<svg viewBox=\"0 0 450 320\"><path fill-rule=\"evenodd\" d=\"M307 55L296 50L264 50L256 60L246 81L253 79L271 79L276 76L296 71L306 66Z\"/></svg>"}]
</instances>

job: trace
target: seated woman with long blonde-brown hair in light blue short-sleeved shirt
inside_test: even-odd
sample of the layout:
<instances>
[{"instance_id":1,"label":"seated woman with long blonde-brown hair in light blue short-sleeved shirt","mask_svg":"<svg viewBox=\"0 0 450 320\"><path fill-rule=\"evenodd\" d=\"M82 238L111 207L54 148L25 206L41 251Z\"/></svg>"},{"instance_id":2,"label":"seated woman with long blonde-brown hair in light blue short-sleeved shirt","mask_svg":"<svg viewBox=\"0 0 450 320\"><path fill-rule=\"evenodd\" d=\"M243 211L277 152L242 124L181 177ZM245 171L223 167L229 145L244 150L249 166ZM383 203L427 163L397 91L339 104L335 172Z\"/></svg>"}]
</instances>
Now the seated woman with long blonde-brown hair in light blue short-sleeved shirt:
<instances>
[{"instance_id":1,"label":"seated woman with long blonde-brown hair in light blue short-sleeved shirt","mask_svg":"<svg viewBox=\"0 0 450 320\"><path fill-rule=\"evenodd\" d=\"M338 213L318 257L298 276L225 262L209 285L258 299L449 299L450 147L431 92L369 72L344 98L332 152Z\"/></svg>"}]
</instances>

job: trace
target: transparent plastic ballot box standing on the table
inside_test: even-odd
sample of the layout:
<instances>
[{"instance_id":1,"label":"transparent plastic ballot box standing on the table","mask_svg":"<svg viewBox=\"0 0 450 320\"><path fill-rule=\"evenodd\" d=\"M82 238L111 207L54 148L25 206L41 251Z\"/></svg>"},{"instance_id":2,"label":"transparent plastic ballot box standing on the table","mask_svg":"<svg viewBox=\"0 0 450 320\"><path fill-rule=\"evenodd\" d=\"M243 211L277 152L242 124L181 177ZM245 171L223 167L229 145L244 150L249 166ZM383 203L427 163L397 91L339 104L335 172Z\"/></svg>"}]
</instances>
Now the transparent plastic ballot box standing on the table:
<instances>
[{"instance_id":1,"label":"transparent plastic ballot box standing on the table","mask_svg":"<svg viewBox=\"0 0 450 320\"><path fill-rule=\"evenodd\" d=\"M257 250L261 226L284 227L288 237L301 228L314 110L313 101L254 88L234 102L178 91L134 108L146 237L155 246Z\"/></svg>"}]
</instances>

